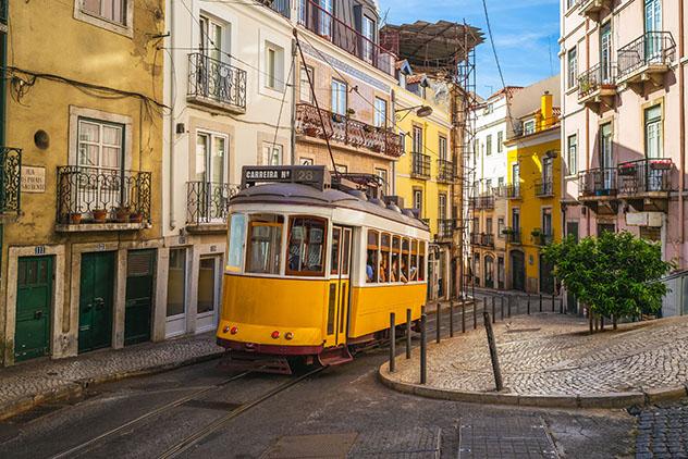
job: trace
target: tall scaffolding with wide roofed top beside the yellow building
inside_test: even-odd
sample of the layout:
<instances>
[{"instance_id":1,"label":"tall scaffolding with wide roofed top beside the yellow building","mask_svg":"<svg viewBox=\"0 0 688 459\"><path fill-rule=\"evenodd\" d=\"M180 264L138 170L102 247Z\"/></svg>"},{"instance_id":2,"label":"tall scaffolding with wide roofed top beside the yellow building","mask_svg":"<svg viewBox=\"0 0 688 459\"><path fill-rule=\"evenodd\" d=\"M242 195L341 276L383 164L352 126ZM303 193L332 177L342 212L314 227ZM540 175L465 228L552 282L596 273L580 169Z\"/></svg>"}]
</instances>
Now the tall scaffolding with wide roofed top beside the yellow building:
<instances>
[{"instance_id":1,"label":"tall scaffolding with wide roofed top beside the yellow building","mask_svg":"<svg viewBox=\"0 0 688 459\"><path fill-rule=\"evenodd\" d=\"M476 166L470 164L476 136L476 47L484 41L482 32L462 23L439 21L386 25L380 30L381 47L394 52L410 66L449 86L452 122L452 161L455 172L451 184L454 224L451 243L451 297L465 296L470 275L471 245L467 237L472 183Z\"/></svg>"}]
</instances>

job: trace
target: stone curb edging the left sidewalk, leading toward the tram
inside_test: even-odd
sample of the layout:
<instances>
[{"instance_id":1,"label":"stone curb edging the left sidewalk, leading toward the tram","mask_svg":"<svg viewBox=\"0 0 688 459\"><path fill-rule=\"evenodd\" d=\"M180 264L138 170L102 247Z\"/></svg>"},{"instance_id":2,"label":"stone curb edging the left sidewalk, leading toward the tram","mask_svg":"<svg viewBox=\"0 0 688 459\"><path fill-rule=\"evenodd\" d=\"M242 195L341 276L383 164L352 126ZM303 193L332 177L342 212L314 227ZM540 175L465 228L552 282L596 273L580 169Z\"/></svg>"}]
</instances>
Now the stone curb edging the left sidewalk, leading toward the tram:
<instances>
[{"instance_id":1,"label":"stone curb edging the left sidewalk, leading toward the tram","mask_svg":"<svg viewBox=\"0 0 688 459\"><path fill-rule=\"evenodd\" d=\"M15 417L39 405L50 404L50 402L56 402L56 401L63 401L63 400L81 397L84 395L84 392L86 390L86 388L94 385L111 383L111 382L124 380L127 377L164 373L167 371L175 370L182 367L188 367L196 363L202 363L206 361L219 359L222 356L222 353L224 353L224 350L208 353L205 356L196 356L196 357L185 359L185 360L180 360L176 362L163 363L160 365L138 369L138 370L122 371L118 373L107 374L103 376L86 377L86 379L76 380L76 381L67 381L60 387L42 390L34 395L22 396L21 398L0 405L0 421L4 421L9 418Z\"/></svg>"}]
</instances>

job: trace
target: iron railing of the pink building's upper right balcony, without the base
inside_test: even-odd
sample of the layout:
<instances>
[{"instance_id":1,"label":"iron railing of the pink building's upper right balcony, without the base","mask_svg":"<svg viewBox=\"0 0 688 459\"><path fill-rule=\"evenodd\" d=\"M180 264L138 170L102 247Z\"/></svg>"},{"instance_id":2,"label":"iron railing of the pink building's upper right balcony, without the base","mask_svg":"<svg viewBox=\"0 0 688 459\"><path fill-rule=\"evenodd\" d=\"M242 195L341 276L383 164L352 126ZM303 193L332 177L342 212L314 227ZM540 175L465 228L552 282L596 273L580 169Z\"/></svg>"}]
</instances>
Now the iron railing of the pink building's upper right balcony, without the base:
<instances>
[{"instance_id":1,"label":"iron railing of the pink building's upper right balcony, without the base","mask_svg":"<svg viewBox=\"0 0 688 459\"><path fill-rule=\"evenodd\" d=\"M647 32L618 50L618 77L647 65L669 65L675 58L676 42L669 32Z\"/></svg>"}]
</instances>

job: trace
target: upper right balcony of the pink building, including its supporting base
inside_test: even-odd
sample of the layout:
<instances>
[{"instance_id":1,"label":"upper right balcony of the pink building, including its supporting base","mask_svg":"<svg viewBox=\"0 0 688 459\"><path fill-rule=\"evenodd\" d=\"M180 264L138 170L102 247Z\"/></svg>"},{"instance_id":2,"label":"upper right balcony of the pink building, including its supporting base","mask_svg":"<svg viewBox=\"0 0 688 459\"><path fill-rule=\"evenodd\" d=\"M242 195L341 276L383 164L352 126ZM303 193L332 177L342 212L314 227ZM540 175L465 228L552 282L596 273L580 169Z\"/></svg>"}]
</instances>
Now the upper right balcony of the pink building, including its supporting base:
<instances>
[{"instance_id":1,"label":"upper right balcony of the pink building, including its supporting base","mask_svg":"<svg viewBox=\"0 0 688 459\"><path fill-rule=\"evenodd\" d=\"M676 42L668 32L648 32L621 48L617 55L618 84L642 94L646 83L664 85L664 75L676 59Z\"/></svg>"}]
</instances>

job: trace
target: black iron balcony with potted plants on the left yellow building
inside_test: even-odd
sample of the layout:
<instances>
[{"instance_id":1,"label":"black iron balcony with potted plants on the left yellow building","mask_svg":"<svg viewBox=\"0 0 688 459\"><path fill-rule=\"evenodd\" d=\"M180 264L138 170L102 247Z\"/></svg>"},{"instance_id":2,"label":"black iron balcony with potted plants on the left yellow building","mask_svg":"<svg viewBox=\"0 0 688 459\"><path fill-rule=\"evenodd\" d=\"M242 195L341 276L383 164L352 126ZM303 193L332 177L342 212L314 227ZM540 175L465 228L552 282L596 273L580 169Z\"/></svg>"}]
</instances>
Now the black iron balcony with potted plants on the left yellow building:
<instances>
[{"instance_id":1,"label":"black iron balcony with potted plants on the left yellow building","mask_svg":"<svg viewBox=\"0 0 688 459\"><path fill-rule=\"evenodd\" d=\"M150 226L150 172L58 168L61 233L135 231Z\"/></svg>"}]
</instances>

